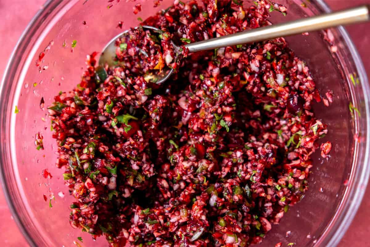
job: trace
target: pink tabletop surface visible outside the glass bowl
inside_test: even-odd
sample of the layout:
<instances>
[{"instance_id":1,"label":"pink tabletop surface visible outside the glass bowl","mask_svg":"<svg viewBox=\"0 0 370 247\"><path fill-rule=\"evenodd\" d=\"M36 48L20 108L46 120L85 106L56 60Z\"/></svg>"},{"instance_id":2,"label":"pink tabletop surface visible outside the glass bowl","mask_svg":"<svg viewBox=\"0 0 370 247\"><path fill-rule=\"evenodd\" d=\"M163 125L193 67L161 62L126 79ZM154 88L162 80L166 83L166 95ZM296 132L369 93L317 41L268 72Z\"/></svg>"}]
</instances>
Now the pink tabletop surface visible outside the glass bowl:
<instances>
[{"instance_id":1,"label":"pink tabletop surface visible outside the glass bowl","mask_svg":"<svg viewBox=\"0 0 370 247\"><path fill-rule=\"evenodd\" d=\"M13 47L16 45L21 33L28 22L41 8L44 0L0 0L0 76L3 76L7 60ZM363 3L370 4L370 0L327 0L334 10L356 6ZM370 23L348 26L347 31L354 40L361 59L365 64L367 74L370 75ZM368 234L370 224L370 186L367 187L365 198L361 203L356 217L349 230L344 235L339 246L370 246ZM26 240L18 230L11 217L9 208L0 190L0 246L28 246Z\"/></svg>"}]
</instances>

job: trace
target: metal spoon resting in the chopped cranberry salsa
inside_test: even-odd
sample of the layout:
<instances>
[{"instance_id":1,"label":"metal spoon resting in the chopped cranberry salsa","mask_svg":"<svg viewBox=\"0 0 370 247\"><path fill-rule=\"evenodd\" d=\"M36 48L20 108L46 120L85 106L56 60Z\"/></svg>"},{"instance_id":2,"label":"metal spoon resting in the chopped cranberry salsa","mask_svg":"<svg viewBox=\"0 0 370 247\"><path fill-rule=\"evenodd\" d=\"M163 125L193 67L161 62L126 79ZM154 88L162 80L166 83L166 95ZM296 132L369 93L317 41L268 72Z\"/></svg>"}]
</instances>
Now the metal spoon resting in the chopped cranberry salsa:
<instances>
[{"instance_id":1,"label":"metal spoon resting in the chopped cranberry salsa","mask_svg":"<svg viewBox=\"0 0 370 247\"><path fill-rule=\"evenodd\" d=\"M218 38L203 40L195 43L186 44L185 47L189 52L197 52L204 50L212 50L215 48L234 46L238 44L246 44L258 42L263 40L274 39L277 37L289 36L293 34L302 34L309 31L316 31L326 29L329 27L336 27L340 25L353 24L369 20L370 5L363 5L354 7L352 9L336 11L329 14L322 14L319 16L308 17L300 20L289 21L287 23L276 24L266 27L260 27L248 31L229 34ZM142 26L143 29L159 30L156 27ZM113 65L113 58L115 57L115 40L124 36L127 31L124 31L115 36L104 47L102 55L99 59L99 65L104 66L107 63L109 66ZM179 54L179 46L172 42L175 53ZM163 69L161 74L151 75L150 79L156 79L156 83L163 83L174 72L173 69L167 67Z\"/></svg>"}]
</instances>

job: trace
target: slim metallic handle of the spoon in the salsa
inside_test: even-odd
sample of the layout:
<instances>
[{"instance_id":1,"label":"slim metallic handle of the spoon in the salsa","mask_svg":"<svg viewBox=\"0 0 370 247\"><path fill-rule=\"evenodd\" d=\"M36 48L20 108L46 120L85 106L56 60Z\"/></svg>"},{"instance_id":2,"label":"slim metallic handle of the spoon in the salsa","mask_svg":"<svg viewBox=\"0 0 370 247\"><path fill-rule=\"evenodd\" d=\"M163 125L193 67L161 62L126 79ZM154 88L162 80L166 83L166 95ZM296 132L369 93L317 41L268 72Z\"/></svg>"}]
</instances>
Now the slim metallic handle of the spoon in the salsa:
<instances>
[{"instance_id":1,"label":"slim metallic handle of the spoon in the salsa","mask_svg":"<svg viewBox=\"0 0 370 247\"><path fill-rule=\"evenodd\" d=\"M186 44L185 47L189 49L189 52L212 50L220 47L252 43L326 29L329 27L358 23L369 20L369 11L370 5L363 5L352 9L289 21L282 24L274 24L271 26L260 27L258 29L242 31L218 38Z\"/></svg>"}]
</instances>

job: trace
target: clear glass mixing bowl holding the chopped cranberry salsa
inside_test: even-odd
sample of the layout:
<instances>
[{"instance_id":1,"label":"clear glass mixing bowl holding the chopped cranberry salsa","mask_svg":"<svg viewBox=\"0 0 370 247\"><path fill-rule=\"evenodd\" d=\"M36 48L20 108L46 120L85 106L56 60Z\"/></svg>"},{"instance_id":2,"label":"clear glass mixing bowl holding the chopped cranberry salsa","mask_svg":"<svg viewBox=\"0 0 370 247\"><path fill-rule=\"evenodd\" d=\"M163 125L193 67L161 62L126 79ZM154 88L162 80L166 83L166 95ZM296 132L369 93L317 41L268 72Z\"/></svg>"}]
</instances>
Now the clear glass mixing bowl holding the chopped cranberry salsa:
<instances>
[{"instance_id":1,"label":"clear glass mixing bowl holding the chopped cranberry salsa","mask_svg":"<svg viewBox=\"0 0 370 247\"><path fill-rule=\"evenodd\" d=\"M321 1L302 7L300 0L277 1L288 7L286 17L274 11L273 23L330 11ZM19 40L11 56L0 97L1 181L9 207L30 246L107 246L104 238L93 241L88 233L74 230L68 223L68 206L73 197L64 186L63 171L55 167L55 141L51 138L47 111L40 109L53 102L59 91L72 89L80 80L86 54L101 48L118 33L137 26L138 17L151 16L172 1L157 8L153 1L47 1ZM112 4L112 6L110 6ZM245 1L245 4L253 4ZM86 24L83 24L84 21ZM119 21L122 29L117 28ZM323 40L323 32L296 35L287 41L297 56L304 59L317 83L321 96L333 90L330 107L314 104L316 116L328 124L329 133L321 141L333 144L328 160L320 151L313 156L310 189L302 202L290 208L281 223L273 226L261 246L335 246L350 225L363 197L369 176L369 85L360 57L343 27L331 29L337 46L333 53ZM71 52L71 44L76 47ZM65 44L65 45L64 45ZM65 46L65 47L64 47ZM40 69L36 66L44 52ZM48 66L48 67L44 67ZM46 70L44 70L46 69ZM358 109L350 112L349 104ZM14 114L15 107L19 113ZM43 134L45 150L37 150L36 133ZM41 171L47 168L53 178ZM45 201L53 193L55 200ZM49 207L49 203L51 203ZM286 232L290 231L286 237Z\"/></svg>"}]
</instances>

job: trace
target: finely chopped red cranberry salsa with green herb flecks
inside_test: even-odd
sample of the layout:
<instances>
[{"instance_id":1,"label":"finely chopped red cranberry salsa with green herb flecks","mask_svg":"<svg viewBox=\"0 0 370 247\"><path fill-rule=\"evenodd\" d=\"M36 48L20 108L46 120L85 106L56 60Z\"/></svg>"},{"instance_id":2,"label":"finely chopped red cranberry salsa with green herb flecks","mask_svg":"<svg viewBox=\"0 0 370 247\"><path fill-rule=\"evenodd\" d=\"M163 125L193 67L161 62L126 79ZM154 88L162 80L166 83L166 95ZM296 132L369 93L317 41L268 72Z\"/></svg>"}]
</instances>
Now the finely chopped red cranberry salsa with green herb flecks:
<instances>
[{"instance_id":1,"label":"finely chopped red cranberry salsa with green herb flecks","mask_svg":"<svg viewBox=\"0 0 370 247\"><path fill-rule=\"evenodd\" d=\"M109 246L260 243L308 189L327 126L311 108L321 99L309 68L285 39L184 48L181 61L170 44L270 25L269 12L287 9L203 3L176 0L142 23L157 33L131 29L114 66L87 56L80 83L48 107L75 198L70 224ZM148 79L165 66L175 74L164 84ZM329 157L330 142L321 149Z\"/></svg>"}]
</instances>

